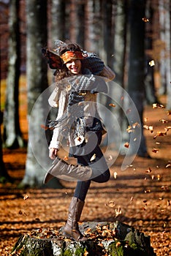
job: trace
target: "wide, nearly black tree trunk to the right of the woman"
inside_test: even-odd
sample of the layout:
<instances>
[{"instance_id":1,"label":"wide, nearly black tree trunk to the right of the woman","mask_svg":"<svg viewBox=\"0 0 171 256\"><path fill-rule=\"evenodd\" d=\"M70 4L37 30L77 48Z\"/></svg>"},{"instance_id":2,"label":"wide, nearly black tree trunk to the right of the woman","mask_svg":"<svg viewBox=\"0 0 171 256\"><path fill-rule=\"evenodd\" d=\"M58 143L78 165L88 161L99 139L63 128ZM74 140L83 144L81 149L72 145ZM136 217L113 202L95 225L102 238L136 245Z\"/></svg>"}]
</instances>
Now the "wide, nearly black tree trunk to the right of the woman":
<instances>
[{"instance_id":1,"label":"wide, nearly black tree trunk to the right of the woman","mask_svg":"<svg viewBox=\"0 0 171 256\"><path fill-rule=\"evenodd\" d=\"M148 156L145 137L143 135L143 104L145 100L145 23L140 17L145 17L145 1L130 1L130 51L129 51L129 80L128 91L132 98L140 116L141 136L140 148L138 152L134 152L134 143L130 145L132 154L138 154L141 157ZM134 116L132 116L134 118ZM132 120L133 121L133 120Z\"/></svg>"}]
</instances>

